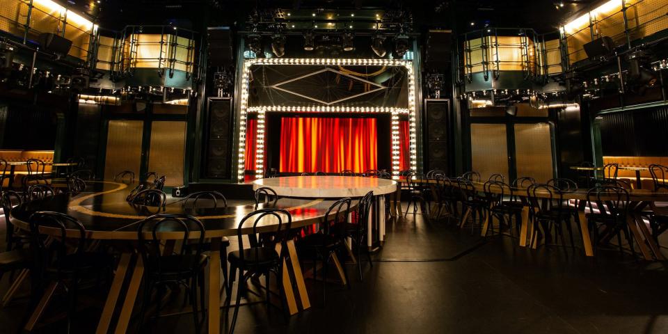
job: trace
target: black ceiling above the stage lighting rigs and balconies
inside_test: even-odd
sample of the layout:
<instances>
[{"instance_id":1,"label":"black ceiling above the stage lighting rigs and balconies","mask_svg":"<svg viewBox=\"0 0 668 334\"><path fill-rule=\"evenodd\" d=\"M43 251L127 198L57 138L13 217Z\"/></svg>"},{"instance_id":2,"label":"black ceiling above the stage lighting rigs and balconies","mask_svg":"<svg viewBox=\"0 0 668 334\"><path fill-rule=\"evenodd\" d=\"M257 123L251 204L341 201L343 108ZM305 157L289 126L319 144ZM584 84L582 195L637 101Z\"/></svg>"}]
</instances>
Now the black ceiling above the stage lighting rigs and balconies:
<instances>
[{"instance_id":1,"label":"black ceiling above the stage lighting rigs and balconies","mask_svg":"<svg viewBox=\"0 0 668 334\"><path fill-rule=\"evenodd\" d=\"M176 24L199 30L204 26L234 26L253 9L292 8L408 10L417 30L456 29L466 32L493 27L533 28L539 33L557 26L596 0L61 0L65 6L93 17L103 28L127 24ZM473 25L471 25L473 23Z\"/></svg>"}]
</instances>

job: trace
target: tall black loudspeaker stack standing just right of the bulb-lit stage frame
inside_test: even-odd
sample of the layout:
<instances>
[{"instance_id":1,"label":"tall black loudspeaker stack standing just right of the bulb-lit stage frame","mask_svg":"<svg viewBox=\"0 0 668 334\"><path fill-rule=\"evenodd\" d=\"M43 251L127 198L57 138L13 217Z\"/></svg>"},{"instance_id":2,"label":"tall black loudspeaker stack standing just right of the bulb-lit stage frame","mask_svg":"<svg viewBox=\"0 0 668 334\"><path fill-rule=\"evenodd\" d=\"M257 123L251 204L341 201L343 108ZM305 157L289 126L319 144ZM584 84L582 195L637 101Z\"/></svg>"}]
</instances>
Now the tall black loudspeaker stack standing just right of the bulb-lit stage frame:
<instances>
[{"instance_id":1,"label":"tall black loudspeaker stack standing just right of the bulb-lit stage frame","mask_svg":"<svg viewBox=\"0 0 668 334\"><path fill-rule=\"evenodd\" d=\"M424 100L424 122L427 125L425 169L450 170L450 100Z\"/></svg>"}]
</instances>

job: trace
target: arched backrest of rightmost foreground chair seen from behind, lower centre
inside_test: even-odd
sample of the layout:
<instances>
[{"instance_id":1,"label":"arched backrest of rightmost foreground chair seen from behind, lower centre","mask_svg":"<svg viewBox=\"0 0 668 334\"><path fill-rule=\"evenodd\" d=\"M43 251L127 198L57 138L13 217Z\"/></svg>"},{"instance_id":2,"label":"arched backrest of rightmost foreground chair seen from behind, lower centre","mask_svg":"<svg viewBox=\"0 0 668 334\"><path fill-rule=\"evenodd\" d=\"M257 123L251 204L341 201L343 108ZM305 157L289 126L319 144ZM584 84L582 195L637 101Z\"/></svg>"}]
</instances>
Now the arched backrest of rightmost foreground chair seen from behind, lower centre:
<instances>
[{"instance_id":1,"label":"arched backrest of rightmost foreground chair seen from behind, lower centre","mask_svg":"<svg viewBox=\"0 0 668 334\"><path fill-rule=\"evenodd\" d=\"M252 218L253 223L247 224L247 221L250 221ZM262 227L267 226L267 223L271 223L271 228L267 228L269 231L262 231L267 236L263 241L264 247L273 249L276 244L283 243L289 237L290 226L292 225L292 215L287 212L286 209L278 209L275 207L268 207L264 209L258 209L250 214L246 214L244 218L241 218L239 225L237 226L237 237L239 239L239 260L244 262L244 234L248 234L249 237L255 236L258 234L258 224L262 223ZM250 228L250 233L244 232L248 231ZM252 242L252 241L251 241ZM259 247L253 247L255 251L258 251ZM253 249L251 248L251 249ZM285 245L281 247L285 249Z\"/></svg>"}]
</instances>

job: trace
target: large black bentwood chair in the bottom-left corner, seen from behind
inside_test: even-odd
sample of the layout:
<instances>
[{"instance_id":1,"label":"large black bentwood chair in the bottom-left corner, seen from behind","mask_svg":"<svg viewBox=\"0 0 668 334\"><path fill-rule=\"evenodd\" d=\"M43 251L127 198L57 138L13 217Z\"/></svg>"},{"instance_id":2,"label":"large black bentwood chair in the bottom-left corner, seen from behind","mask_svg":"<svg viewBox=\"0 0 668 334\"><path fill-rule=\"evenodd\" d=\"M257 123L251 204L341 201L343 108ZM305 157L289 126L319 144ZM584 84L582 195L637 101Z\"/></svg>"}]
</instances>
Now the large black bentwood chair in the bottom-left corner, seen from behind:
<instances>
[{"instance_id":1,"label":"large black bentwood chair in the bottom-left corner, seen from behind","mask_svg":"<svg viewBox=\"0 0 668 334\"><path fill-rule=\"evenodd\" d=\"M35 310L33 317L26 324L26 331L31 331L44 313L51 296L58 287L67 294L67 333L70 332L72 320L77 314L77 296L81 280L87 274L96 273L97 278L104 273L111 277L113 257L99 251L87 251L90 246L86 237L86 228L72 216L60 212L35 212L29 218L31 233L31 294ZM40 233L40 228L55 229L58 237L47 238ZM70 230L68 235L68 230ZM74 231L74 232L72 232ZM47 282L49 282L47 286ZM44 287L46 289L44 289ZM42 296L39 303L36 298ZM35 315L37 315L35 317Z\"/></svg>"}]
</instances>

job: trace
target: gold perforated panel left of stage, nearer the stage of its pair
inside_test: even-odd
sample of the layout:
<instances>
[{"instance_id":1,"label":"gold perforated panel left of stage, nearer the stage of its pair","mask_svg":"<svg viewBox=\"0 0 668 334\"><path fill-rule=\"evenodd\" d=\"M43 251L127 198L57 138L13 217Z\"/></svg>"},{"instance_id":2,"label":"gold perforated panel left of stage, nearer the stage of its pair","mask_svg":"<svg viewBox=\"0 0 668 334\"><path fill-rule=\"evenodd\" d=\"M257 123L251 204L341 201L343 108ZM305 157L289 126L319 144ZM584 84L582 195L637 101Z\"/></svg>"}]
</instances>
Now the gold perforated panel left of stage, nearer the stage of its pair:
<instances>
[{"instance_id":1,"label":"gold perforated panel left of stage, nearer the stage of its pair","mask_svg":"<svg viewBox=\"0 0 668 334\"><path fill-rule=\"evenodd\" d=\"M183 184L186 122L156 121L151 124L148 170L166 176L166 186Z\"/></svg>"}]
</instances>

